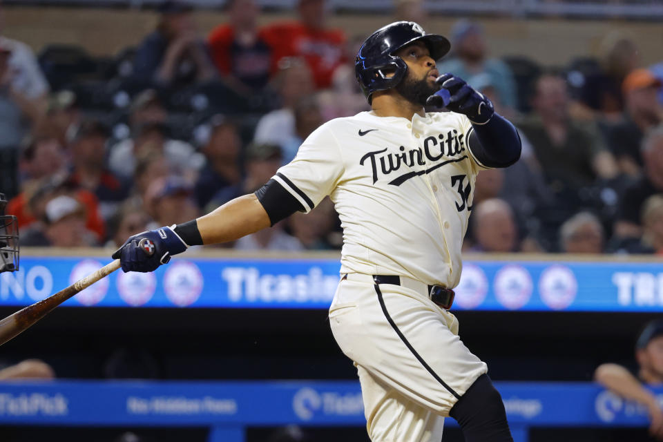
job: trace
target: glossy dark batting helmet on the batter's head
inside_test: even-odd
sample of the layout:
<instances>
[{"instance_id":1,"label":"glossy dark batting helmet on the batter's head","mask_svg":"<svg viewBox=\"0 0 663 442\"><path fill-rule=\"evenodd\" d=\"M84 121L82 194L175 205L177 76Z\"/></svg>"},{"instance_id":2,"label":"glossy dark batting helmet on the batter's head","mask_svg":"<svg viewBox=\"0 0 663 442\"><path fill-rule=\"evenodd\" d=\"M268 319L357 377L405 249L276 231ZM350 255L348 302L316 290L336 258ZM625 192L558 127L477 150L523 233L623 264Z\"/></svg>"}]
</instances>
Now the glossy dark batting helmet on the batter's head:
<instances>
[{"instance_id":1,"label":"glossy dark batting helmet on the batter's head","mask_svg":"<svg viewBox=\"0 0 663 442\"><path fill-rule=\"evenodd\" d=\"M414 21L396 21L380 28L364 41L357 52L354 72L368 102L377 90L387 90L401 82L407 64L394 52L414 41L423 41L434 60L441 59L451 45L441 35L426 34ZM391 77L387 74L393 73Z\"/></svg>"}]
</instances>

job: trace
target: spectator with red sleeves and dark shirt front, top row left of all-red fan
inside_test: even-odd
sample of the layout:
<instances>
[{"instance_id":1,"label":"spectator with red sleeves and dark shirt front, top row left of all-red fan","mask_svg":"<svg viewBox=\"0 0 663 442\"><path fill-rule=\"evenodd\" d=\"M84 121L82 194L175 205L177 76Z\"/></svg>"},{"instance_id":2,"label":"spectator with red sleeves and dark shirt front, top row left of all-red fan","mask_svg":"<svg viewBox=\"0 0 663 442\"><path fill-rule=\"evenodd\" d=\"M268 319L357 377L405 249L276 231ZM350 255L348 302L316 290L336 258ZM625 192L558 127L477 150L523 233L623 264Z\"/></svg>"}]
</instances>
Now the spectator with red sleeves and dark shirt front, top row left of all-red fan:
<instances>
[{"instance_id":1,"label":"spectator with red sleeves and dark shirt front, top row left of all-red fan","mask_svg":"<svg viewBox=\"0 0 663 442\"><path fill-rule=\"evenodd\" d=\"M239 91L257 92L267 86L271 48L258 29L256 0L230 0L228 23L210 32L209 48L222 78Z\"/></svg>"}]
</instances>

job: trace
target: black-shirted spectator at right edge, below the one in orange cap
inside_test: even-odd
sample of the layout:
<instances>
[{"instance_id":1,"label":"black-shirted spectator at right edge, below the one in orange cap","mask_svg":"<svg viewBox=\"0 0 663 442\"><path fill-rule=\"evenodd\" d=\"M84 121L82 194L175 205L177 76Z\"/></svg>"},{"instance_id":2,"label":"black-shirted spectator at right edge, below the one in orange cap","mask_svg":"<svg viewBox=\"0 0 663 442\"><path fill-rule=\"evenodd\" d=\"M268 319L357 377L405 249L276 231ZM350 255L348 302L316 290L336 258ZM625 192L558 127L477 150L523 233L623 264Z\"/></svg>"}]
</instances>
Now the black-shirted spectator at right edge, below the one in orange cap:
<instances>
[{"instance_id":1,"label":"black-shirted spectator at right edge, below the one in orange cap","mask_svg":"<svg viewBox=\"0 0 663 442\"><path fill-rule=\"evenodd\" d=\"M613 229L617 240L642 236L642 209L651 195L663 193L663 124L651 129L640 146L644 174L624 189Z\"/></svg>"}]
</instances>

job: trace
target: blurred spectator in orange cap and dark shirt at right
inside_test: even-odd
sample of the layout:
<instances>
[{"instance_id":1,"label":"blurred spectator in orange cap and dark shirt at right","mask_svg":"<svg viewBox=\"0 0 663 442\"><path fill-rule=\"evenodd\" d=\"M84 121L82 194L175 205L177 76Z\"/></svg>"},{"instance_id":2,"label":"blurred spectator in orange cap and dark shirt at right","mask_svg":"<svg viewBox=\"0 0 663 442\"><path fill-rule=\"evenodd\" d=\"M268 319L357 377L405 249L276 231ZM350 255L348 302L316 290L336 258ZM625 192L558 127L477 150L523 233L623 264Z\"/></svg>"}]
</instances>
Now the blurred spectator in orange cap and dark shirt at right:
<instances>
[{"instance_id":1,"label":"blurred spectator in orange cap and dark shirt at right","mask_svg":"<svg viewBox=\"0 0 663 442\"><path fill-rule=\"evenodd\" d=\"M625 109L621 122L606 126L606 140L617 158L620 171L638 177L642 173L642 137L663 122L663 107L657 94L663 83L647 69L635 69L622 83Z\"/></svg>"}]
</instances>

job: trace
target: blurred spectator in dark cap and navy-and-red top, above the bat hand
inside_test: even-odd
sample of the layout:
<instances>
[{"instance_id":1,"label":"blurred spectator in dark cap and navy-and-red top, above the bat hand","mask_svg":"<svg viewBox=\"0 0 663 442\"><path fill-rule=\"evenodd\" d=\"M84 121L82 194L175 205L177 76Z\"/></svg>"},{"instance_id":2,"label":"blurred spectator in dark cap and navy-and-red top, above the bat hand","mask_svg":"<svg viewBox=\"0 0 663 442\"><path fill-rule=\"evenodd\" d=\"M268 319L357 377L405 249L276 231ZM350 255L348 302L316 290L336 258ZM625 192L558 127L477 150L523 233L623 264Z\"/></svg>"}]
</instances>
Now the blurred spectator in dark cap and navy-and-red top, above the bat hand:
<instances>
[{"instance_id":1,"label":"blurred spectator in dark cap and navy-and-red top, above the bat hand","mask_svg":"<svg viewBox=\"0 0 663 442\"><path fill-rule=\"evenodd\" d=\"M70 182L93 192L104 219L111 218L128 196L130 185L106 169L108 128L98 121L80 124L69 144L72 168Z\"/></svg>"}]
</instances>

